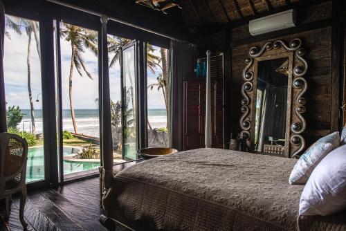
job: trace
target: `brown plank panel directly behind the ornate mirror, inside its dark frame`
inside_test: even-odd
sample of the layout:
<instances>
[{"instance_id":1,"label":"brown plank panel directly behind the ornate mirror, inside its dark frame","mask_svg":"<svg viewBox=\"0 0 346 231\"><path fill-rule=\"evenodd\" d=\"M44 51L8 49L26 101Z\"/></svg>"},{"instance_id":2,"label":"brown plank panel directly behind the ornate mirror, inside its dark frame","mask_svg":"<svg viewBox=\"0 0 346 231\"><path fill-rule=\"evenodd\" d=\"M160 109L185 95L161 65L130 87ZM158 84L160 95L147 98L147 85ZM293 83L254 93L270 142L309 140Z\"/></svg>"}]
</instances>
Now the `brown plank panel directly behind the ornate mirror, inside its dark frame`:
<instances>
[{"instance_id":1,"label":"brown plank panel directly behind the ornate mirror, inside its dark frame","mask_svg":"<svg viewBox=\"0 0 346 231\"><path fill-rule=\"evenodd\" d=\"M309 144L320 138L322 134L332 131L331 118L336 116L332 112L332 100L338 98L338 95L335 95L336 93L331 89L331 27L277 37L270 39L270 41L282 39L289 42L295 37L302 39L302 44L307 50L305 58L309 65L307 75L305 75L308 90L304 96L307 99L307 111L304 113L304 118L307 120L307 130L303 134L307 137L307 147L309 147ZM242 70L245 67L245 58L248 57L248 50L252 46L262 47L266 41L232 48L231 86L234 91L231 92L230 100L228 100L230 111L233 112L230 115L232 133L239 133L240 130L240 102L242 100L240 89L243 84Z\"/></svg>"}]
</instances>

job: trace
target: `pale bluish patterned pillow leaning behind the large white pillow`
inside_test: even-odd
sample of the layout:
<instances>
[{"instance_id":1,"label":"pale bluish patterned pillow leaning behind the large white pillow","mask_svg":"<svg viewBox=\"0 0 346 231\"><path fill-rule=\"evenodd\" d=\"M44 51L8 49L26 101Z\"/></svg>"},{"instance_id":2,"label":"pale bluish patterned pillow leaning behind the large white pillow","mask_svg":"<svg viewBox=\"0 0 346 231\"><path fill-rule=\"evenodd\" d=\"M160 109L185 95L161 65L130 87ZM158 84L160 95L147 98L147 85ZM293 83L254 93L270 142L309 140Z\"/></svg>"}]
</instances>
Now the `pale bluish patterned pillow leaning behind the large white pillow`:
<instances>
[{"instance_id":1,"label":"pale bluish patterned pillow leaning behind the large white pillow","mask_svg":"<svg viewBox=\"0 0 346 231\"><path fill-rule=\"evenodd\" d=\"M307 183L311 172L318 163L339 145L340 136L338 131L317 140L304 152L304 154L302 154L302 156L300 156L298 162L295 163L291 176L289 176L289 183L291 185Z\"/></svg>"}]
</instances>

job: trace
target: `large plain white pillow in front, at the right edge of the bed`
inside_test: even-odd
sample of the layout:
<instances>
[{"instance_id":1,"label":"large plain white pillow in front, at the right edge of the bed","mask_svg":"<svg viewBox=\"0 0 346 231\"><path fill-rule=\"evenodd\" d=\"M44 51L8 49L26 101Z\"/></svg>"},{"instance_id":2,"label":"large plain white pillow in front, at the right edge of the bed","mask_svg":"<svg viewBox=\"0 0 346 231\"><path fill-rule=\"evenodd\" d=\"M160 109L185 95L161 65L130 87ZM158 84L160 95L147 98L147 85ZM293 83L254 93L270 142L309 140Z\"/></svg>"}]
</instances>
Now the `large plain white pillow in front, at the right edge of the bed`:
<instances>
[{"instance_id":1,"label":"large plain white pillow in front, at the right edge of the bed","mask_svg":"<svg viewBox=\"0 0 346 231\"><path fill-rule=\"evenodd\" d=\"M346 210L346 145L331 151L313 170L300 197L299 214L327 216Z\"/></svg>"}]
</instances>

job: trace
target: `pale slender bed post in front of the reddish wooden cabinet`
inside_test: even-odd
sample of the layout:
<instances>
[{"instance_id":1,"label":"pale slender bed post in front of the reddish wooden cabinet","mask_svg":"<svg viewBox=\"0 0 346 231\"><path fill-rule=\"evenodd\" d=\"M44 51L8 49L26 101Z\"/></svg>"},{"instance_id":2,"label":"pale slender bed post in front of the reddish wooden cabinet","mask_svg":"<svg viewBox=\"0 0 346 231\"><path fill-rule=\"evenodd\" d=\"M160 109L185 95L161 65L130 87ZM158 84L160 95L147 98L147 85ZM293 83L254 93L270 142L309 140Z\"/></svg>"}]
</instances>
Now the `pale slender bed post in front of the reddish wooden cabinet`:
<instances>
[{"instance_id":1,"label":"pale slender bed post in front of the reddish wooden cabinet","mask_svg":"<svg viewBox=\"0 0 346 231\"><path fill-rule=\"evenodd\" d=\"M210 89L210 50L207 50L207 80L206 80L206 128L204 142L207 147L212 147L212 112L211 112L211 89Z\"/></svg>"}]
</instances>

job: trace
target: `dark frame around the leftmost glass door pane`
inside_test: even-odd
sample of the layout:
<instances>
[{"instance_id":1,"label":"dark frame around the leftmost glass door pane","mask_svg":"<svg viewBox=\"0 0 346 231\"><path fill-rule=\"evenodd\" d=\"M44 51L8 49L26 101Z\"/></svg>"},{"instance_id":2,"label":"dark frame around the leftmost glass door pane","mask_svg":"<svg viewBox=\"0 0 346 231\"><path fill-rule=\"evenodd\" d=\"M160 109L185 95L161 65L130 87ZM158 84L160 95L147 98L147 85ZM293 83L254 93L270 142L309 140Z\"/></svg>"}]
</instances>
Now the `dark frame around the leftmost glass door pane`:
<instances>
[{"instance_id":1,"label":"dark frame around the leftmost glass door pane","mask_svg":"<svg viewBox=\"0 0 346 231\"><path fill-rule=\"evenodd\" d=\"M44 179L26 183L28 191L37 190L50 185L57 185L57 177L53 169L57 169L57 139L55 123L55 73L54 73L54 40L53 40L53 17L42 14L37 15L30 10L18 10L6 8L6 15L22 17L39 22L39 45L41 51L41 92L42 92L42 121L44 134ZM6 48L6 44L4 46ZM53 100L53 104L51 103Z\"/></svg>"}]
</instances>

